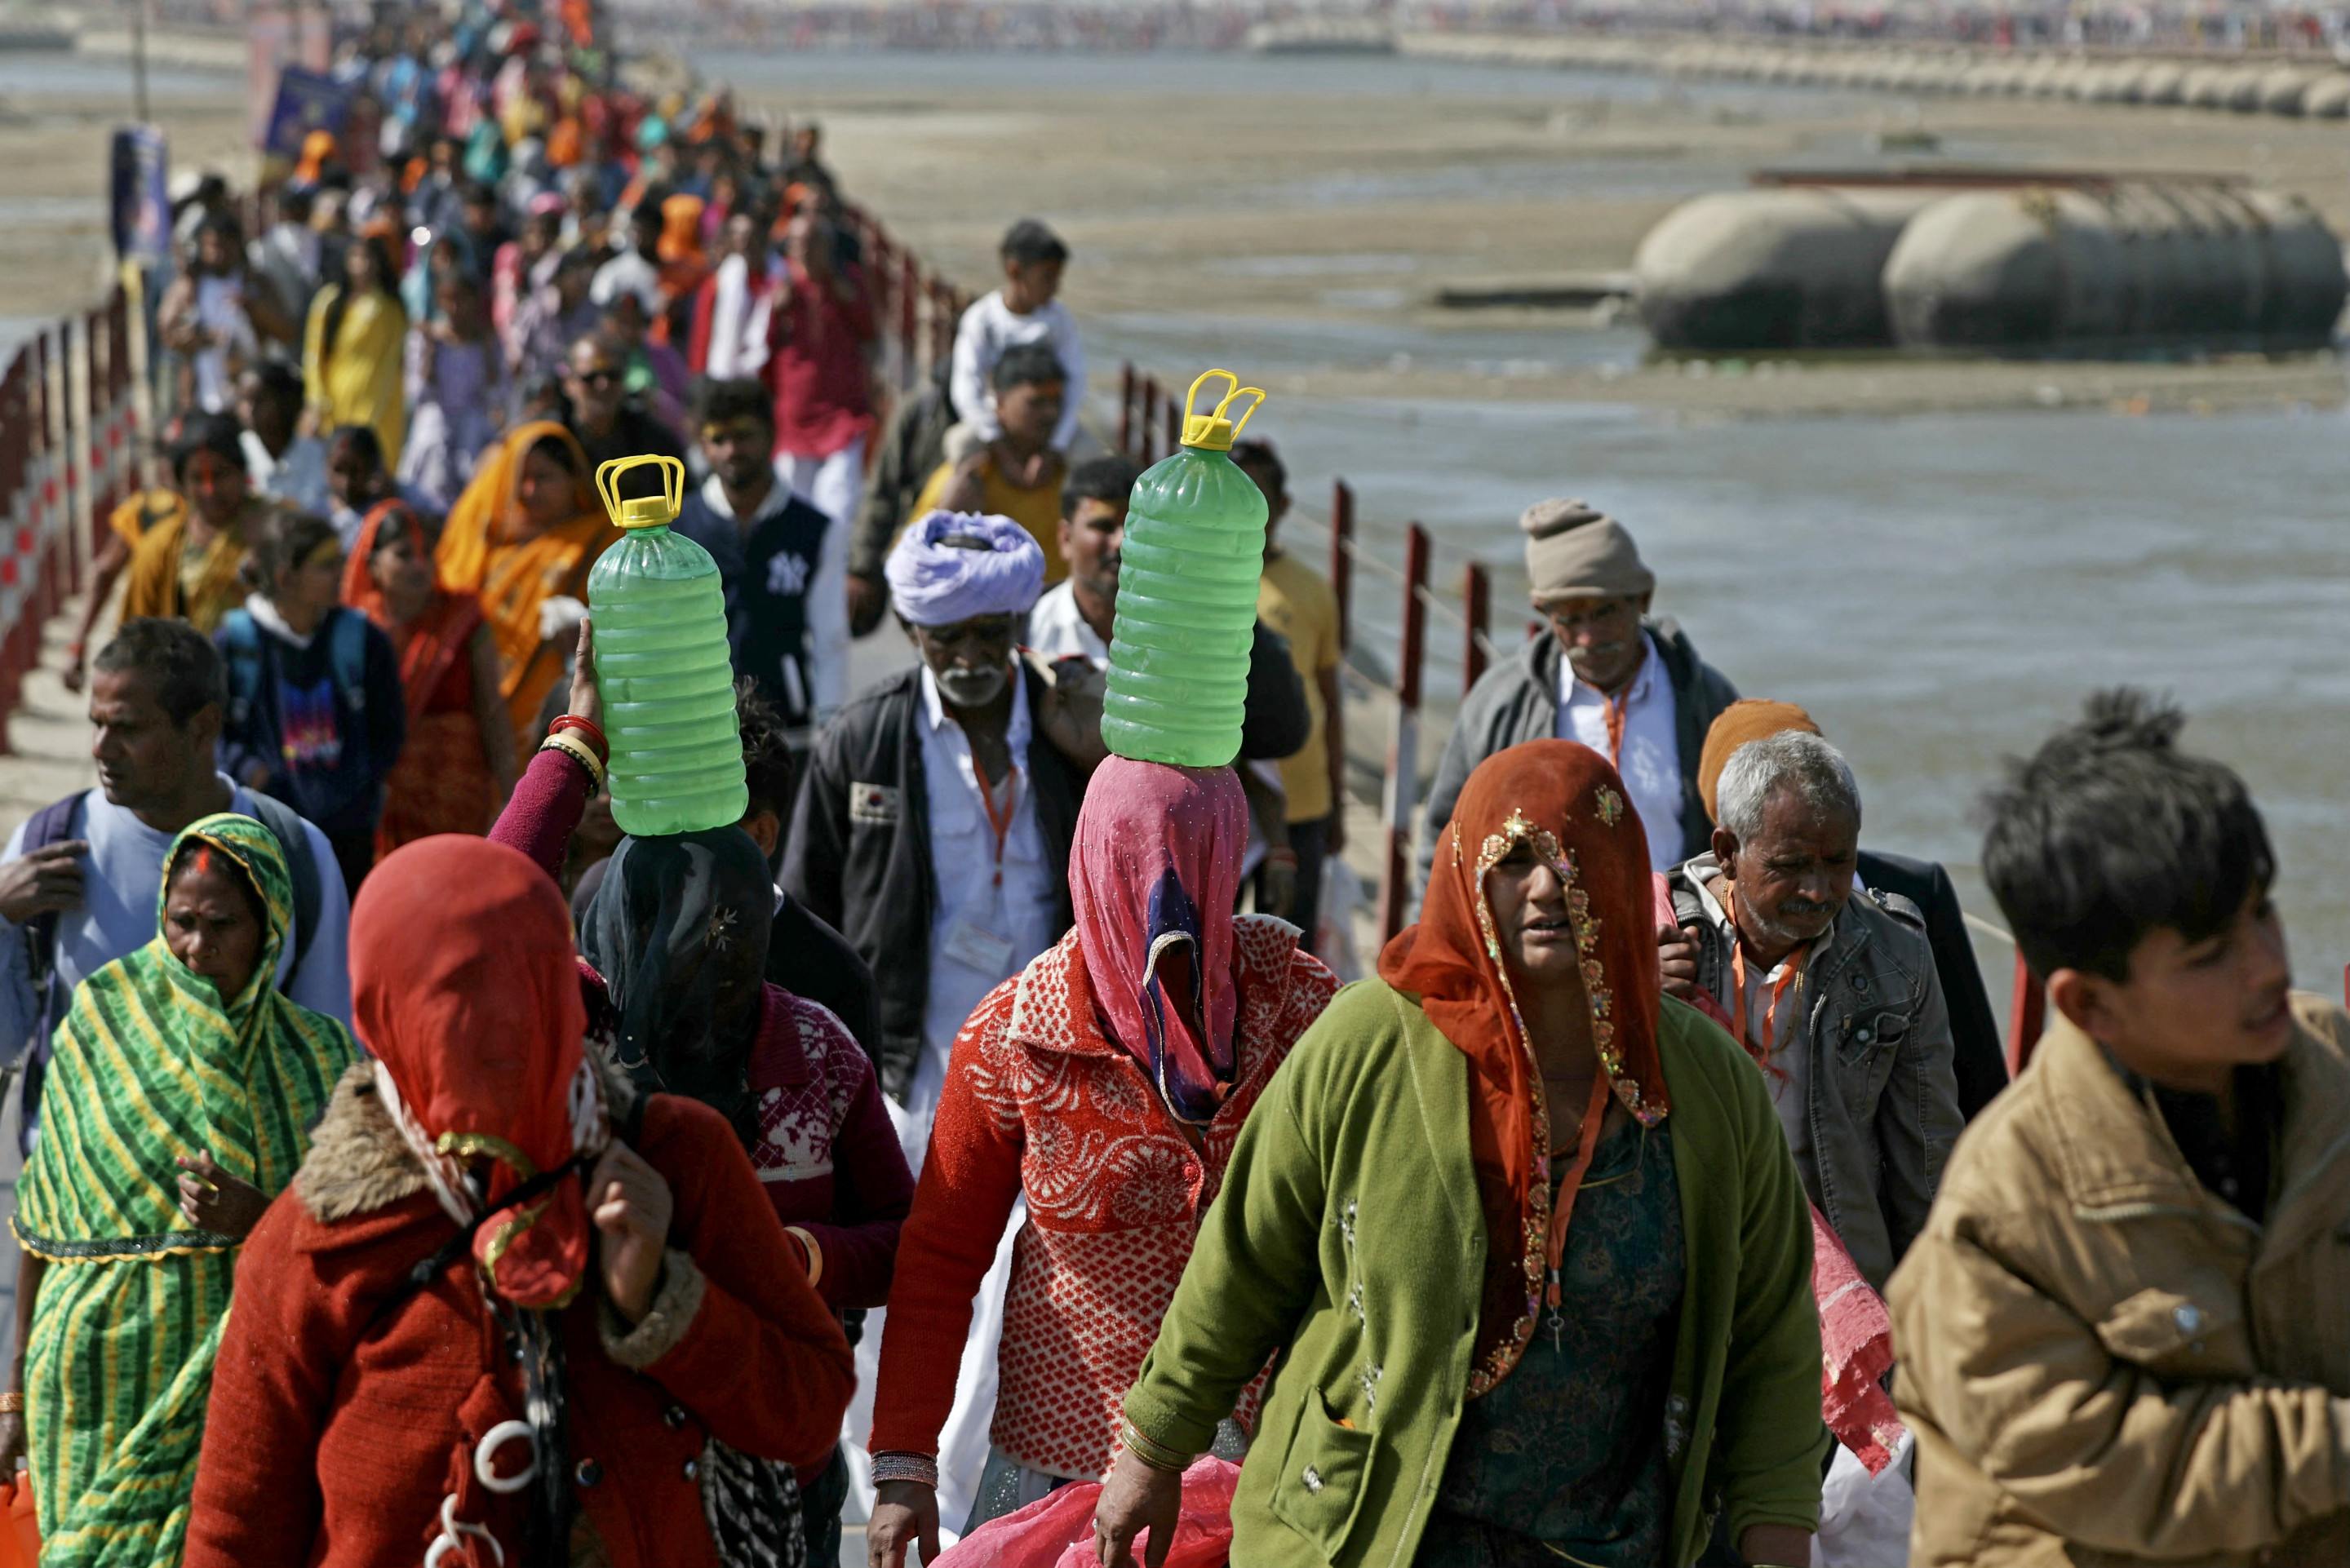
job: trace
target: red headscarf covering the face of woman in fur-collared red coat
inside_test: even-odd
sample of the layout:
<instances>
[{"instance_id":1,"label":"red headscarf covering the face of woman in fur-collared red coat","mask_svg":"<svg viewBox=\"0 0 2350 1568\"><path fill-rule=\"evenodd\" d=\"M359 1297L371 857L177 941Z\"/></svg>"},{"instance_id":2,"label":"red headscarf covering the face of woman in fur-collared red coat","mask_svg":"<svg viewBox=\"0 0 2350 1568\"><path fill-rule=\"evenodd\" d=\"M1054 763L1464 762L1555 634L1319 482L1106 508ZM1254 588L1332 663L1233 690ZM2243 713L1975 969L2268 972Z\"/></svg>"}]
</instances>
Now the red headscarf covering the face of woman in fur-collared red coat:
<instances>
[{"instance_id":1,"label":"red headscarf covering the face of woman in fur-collared red coat","mask_svg":"<svg viewBox=\"0 0 2350 1568\"><path fill-rule=\"evenodd\" d=\"M580 1182L503 1204L609 1135L555 882L489 839L442 835L395 851L350 912L350 1013L442 1206L458 1222L489 1208L472 1255L491 1288L519 1307L569 1302L588 1269ZM486 1204L465 1168L486 1168Z\"/></svg>"}]
</instances>

